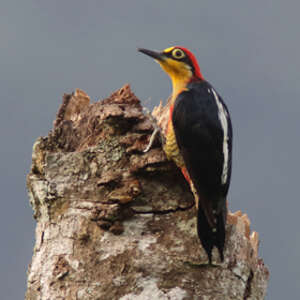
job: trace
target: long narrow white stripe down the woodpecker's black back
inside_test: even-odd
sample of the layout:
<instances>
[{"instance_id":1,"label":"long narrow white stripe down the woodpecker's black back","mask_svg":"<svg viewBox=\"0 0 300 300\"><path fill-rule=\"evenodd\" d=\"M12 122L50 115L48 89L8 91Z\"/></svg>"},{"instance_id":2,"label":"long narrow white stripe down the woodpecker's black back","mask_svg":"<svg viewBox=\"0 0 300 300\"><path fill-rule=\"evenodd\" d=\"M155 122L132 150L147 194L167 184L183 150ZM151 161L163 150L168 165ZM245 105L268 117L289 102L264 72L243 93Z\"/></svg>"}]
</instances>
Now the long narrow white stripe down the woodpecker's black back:
<instances>
[{"instance_id":1,"label":"long narrow white stripe down the woodpecker's black back","mask_svg":"<svg viewBox=\"0 0 300 300\"><path fill-rule=\"evenodd\" d=\"M224 156L224 162L223 162L223 171L222 171L222 177L221 181L222 184L225 184L227 181L228 176L228 160L229 160L229 149L228 149L228 114L226 109L224 108L223 104L221 103L217 93L214 91L214 89L211 89L217 106L218 106L218 117L221 122L222 128L223 128L223 156Z\"/></svg>"}]
</instances>

